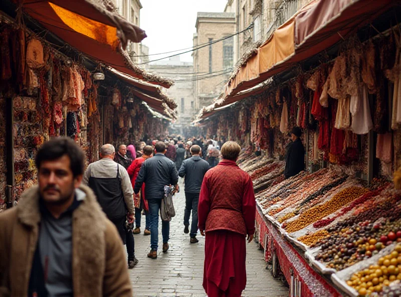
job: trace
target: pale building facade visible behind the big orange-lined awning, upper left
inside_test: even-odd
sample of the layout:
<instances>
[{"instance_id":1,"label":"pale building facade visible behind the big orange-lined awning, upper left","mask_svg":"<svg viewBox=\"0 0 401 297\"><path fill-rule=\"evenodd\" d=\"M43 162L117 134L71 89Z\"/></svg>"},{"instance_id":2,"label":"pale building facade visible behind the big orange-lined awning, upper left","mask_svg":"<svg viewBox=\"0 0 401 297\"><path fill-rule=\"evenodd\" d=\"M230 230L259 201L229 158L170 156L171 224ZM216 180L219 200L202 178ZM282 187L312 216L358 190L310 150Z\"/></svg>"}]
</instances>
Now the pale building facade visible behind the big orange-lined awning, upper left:
<instances>
[{"instance_id":1,"label":"pale building facade visible behind the big orange-lined awning, upper left","mask_svg":"<svg viewBox=\"0 0 401 297\"><path fill-rule=\"evenodd\" d=\"M140 0L114 0L114 4L124 19L138 27L140 26L140 10L142 9ZM140 57L137 56L141 53L140 46L140 43L130 42L127 47L128 54L134 63L139 62Z\"/></svg>"}]
</instances>

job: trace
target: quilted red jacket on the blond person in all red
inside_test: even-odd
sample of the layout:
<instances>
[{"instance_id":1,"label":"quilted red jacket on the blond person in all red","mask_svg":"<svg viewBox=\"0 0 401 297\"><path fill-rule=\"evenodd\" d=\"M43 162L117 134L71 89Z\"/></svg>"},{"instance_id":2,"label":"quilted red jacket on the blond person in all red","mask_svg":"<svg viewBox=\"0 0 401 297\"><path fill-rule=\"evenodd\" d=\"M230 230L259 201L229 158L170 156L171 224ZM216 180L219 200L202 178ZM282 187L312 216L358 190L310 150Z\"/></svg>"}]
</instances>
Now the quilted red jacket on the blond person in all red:
<instances>
[{"instance_id":1,"label":"quilted red jacket on the blond person in all red","mask_svg":"<svg viewBox=\"0 0 401 297\"><path fill-rule=\"evenodd\" d=\"M248 173L229 160L206 173L199 194L199 230L254 234L255 215L255 194Z\"/></svg>"}]
</instances>

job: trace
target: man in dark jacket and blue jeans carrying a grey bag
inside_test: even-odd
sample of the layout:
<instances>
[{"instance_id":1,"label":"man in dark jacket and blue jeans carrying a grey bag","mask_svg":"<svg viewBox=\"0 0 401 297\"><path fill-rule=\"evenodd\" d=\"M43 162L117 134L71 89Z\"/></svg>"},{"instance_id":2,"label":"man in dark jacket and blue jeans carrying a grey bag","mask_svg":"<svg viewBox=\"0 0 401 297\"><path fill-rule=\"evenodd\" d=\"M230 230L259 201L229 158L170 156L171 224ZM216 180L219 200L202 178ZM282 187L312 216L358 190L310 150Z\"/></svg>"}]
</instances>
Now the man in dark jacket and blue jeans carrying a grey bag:
<instances>
[{"instance_id":1,"label":"man in dark jacket and blue jeans carrying a grey bag","mask_svg":"<svg viewBox=\"0 0 401 297\"><path fill-rule=\"evenodd\" d=\"M146 160L139 171L135 181L135 194L138 194L142 184L145 183L145 196L149 204L150 214L150 253L149 258L157 258L158 238L159 238L159 210L161 200L164 198L164 186L172 185L178 190L178 173L175 164L164 156L166 146L164 142L155 144L156 154ZM168 240L170 236L170 222L161 222L161 233L163 235L163 252L167 252Z\"/></svg>"}]
</instances>

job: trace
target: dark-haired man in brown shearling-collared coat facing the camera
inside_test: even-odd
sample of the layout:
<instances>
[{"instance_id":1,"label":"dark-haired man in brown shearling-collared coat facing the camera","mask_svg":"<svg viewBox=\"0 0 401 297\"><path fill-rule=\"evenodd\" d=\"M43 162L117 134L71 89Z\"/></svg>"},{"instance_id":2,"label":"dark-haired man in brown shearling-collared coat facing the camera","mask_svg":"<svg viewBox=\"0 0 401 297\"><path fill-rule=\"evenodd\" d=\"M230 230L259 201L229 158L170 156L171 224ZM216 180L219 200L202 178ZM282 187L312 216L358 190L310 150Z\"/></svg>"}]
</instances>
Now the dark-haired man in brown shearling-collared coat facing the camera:
<instances>
[{"instance_id":1,"label":"dark-haired man in brown shearling-collared coat facing the camera","mask_svg":"<svg viewBox=\"0 0 401 297\"><path fill-rule=\"evenodd\" d=\"M38 186L0 214L0 295L132 296L118 233L81 185L84 152L54 138L35 162Z\"/></svg>"}]
</instances>

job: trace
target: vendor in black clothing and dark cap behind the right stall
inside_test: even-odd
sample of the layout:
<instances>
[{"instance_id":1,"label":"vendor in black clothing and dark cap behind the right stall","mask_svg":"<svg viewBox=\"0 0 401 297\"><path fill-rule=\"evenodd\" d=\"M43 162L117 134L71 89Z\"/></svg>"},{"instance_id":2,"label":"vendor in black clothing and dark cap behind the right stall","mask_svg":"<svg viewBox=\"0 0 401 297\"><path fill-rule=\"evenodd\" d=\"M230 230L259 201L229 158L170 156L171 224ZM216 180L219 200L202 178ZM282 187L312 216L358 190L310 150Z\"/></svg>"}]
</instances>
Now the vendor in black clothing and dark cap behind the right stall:
<instances>
[{"instance_id":1,"label":"vendor in black clothing and dark cap behind the right stall","mask_svg":"<svg viewBox=\"0 0 401 297\"><path fill-rule=\"evenodd\" d=\"M301 128L292 128L291 139L293 142L288 147L284 169L286 179L297 175L305 169L305 148L300 138L301 134Z\"/></svg>"}]
</instances>

